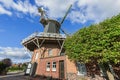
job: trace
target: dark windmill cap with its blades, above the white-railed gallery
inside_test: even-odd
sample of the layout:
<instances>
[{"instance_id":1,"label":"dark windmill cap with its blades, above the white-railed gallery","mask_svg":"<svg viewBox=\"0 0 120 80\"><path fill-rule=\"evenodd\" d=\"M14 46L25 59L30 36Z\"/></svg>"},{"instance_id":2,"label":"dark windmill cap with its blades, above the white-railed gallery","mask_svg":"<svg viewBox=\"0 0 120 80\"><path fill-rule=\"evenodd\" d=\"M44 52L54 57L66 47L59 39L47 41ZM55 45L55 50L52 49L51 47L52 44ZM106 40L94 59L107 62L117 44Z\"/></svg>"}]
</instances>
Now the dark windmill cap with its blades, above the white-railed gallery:
<instances>
[{"instance_id":1,"label":"dark windmill cap with its blades, above the white-railed gallery","mask_svg":"<svg viewBox=\"0 0 120 80\"><path fill-rule=\"evenodd\" d=\"M38 8L38 12L41 13L40 23L44 26L45 33L60 33L60 30L68 36L68 34L61 28L65 18L67 17L72 5L69 6L67 12L65 13L63 19L58 22L57 20L49 19L46 17L45 11L43 8Z\"/></svg>"}]
</instances>

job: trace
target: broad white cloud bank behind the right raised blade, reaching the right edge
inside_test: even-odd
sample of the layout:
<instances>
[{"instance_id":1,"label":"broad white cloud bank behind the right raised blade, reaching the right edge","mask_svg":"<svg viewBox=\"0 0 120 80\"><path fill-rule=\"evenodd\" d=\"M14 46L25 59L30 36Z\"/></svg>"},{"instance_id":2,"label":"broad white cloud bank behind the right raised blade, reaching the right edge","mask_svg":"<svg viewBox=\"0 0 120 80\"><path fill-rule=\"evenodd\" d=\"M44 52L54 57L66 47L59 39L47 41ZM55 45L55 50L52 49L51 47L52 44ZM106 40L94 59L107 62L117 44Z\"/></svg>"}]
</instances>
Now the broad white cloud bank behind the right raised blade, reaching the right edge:
<instances>
[{"instance_id":1,"label":"broad white cloud bank behind the right raised blade, reaching the right edge","mask_svg":"<svg viewBox=\"0 0 120 80\"><path fill-rule=\"evenodd\" d=\"M71 22L100 22L120 13L120 0L35 0L43 6L49 17L62 18L67 7L73 4L68 18Z\"/></svg>"}]
</instances>

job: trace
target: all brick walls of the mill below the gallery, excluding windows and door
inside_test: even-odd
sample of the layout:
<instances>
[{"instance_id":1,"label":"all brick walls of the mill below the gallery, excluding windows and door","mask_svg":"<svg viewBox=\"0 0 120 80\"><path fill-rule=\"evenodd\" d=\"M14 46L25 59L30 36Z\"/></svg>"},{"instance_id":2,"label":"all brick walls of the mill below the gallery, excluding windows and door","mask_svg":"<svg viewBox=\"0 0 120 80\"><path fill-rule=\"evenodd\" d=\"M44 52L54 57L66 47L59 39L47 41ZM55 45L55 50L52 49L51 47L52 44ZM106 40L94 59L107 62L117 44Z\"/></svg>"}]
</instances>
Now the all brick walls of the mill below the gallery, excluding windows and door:
<instances>
[{"instance_id":1,"label":"all brick walls of the mill below the gallery, excluding windows and door","mask_svg":"<svg viewBox=\"0 0 120 80\"><path fill-rule=\"evenodd\" d=\"M48 56L48 50L52 49L52 56ZM68 73L77 73L74 62L70 61L66 56L59 56L60 47L58 44L44 44L40 49L35 49L32 62L37 62L36 75L52 76L59 78L59 61L64 60L65 78ZM35 60L36 53L39 57ZM59 57L57 57L59 56ZM52 71L52 62L56 62L56 71ZM46 71L46 64L50 62L50 71Z\"/></svg>"}]
</instances>

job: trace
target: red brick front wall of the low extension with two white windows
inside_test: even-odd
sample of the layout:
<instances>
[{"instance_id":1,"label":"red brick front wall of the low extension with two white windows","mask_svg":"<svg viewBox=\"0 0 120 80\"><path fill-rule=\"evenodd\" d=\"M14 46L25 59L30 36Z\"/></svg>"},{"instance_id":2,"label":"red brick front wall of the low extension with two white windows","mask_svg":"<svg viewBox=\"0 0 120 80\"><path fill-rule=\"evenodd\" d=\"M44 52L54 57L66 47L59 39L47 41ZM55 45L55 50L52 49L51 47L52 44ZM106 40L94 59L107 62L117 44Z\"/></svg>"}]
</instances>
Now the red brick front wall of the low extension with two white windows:
<instances>
[{"instance_id":1,"label":"red brick front wall of the low extension with two white windows","mask_svg":"<svg viewBox=\"0 0 120 80\"><path fill-rule=\"evenodd\" d=\"M52 76L53 78L59 78L59 61L60 60L65 60L65 56L40 59L36 74L44 75L44 76ZM47 62L50 62L50 71L46 71ZM52 62L56 62L56 71L52 71ZM65 65L65 62L64 62L64 65Z\"/></svg>"}]
</instances>

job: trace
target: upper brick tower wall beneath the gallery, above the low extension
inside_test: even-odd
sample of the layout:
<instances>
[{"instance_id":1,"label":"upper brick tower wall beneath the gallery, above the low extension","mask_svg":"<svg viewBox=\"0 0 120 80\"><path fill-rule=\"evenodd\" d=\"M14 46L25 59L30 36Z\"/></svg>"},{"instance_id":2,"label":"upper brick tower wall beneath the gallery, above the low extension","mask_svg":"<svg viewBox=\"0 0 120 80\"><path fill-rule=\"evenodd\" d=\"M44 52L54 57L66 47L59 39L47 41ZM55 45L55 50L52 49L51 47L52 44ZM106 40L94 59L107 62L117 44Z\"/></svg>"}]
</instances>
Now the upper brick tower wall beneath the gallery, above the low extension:
<instances>
[{"instance_id":1,"label":"upper brick tower wall beneath the gallery, above the low extension","mask_svg":"<svg viewBox=\"0 0 120 80\"><path fill-rule=\"evenodd\" d=\"M37 70L36 70L36 74L39 74L39 66L43 65L44 63L40 63L40 58L46 58L46 57L52 57L52 56L48 56L48 50L52 49L52 56L58 56L60 49L59 49L59 45L58 44L43 44L42 47L40 49L35 49L34 53L32 55L32 60L31 62L37 62L38 66L37 66ZM38 58L37 60L35 60L36 57L36 53L38 53ZM44 56L44 57L43 57ZM52 65L52 63L51 63ZM46 63L45 63L45 68L46 68Z\"/></svg>"}]
</instances>

